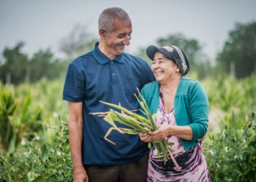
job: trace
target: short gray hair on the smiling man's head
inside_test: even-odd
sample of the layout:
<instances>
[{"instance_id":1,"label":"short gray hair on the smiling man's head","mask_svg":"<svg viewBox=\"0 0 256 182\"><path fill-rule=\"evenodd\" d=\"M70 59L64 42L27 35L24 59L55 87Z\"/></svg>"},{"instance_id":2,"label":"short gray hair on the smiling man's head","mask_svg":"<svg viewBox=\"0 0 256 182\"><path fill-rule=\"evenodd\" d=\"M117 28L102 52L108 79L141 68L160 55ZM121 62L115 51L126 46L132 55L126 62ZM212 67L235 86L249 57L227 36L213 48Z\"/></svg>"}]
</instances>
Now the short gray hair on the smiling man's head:
<instances>
[{"instance_id":1,"label":"short gray hair on the smiling man's head","mask_svg":"<svg viewBox=\"0 0 256 182\"><path fill-rule=\"evenodd\" d=\"M110 7L105 9L102 14L99 15L98 27L104 29L107 33L111 33L114 30L113 23L115 18L123 20L124 22L129 19L129 15L124 9L120 7Z\"/></svg>"}]
</instances>

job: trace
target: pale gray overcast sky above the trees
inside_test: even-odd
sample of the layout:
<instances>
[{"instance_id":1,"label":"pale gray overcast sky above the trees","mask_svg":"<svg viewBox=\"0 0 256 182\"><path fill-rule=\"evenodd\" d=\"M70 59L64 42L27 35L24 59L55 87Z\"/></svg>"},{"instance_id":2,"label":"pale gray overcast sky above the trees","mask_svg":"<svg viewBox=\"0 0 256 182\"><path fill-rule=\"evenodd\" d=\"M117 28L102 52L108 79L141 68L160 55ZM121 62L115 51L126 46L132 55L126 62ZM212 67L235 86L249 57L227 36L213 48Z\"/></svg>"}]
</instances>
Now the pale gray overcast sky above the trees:
<instances>
[{"instance_id":1,"label":"pale gray overcast sky above the trees","mask_svg":"<svg viewBox=\"0 0 256 182\"><path fill-rule=\"evenodd\" d=\"M88 25L98 36L99 14L108 7L129 14L132 41L125 51L132 54L159 37L183 33L204 44L204 52L214 59L235 23L256 20L255 0L0 0L0 52L24 41L29 55L50 47L60 57L59 41L75 24Z\"/></svg>"}]
</instances>

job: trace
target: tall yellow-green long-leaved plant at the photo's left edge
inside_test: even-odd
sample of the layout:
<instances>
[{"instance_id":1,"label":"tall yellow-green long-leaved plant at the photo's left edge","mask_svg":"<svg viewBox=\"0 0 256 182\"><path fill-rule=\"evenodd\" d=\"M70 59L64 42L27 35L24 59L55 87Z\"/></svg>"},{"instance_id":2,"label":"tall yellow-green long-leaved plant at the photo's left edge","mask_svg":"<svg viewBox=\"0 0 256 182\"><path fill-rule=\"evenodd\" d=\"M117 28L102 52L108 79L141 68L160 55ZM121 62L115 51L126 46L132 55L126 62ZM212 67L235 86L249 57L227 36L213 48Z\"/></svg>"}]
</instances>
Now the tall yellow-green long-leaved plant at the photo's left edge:
<instances>
[{"instance_id":1,"label":"tall yellow-green long-leaved plant at the photo's left edge","mask_svg":"<svg viewBox=\"0 0 256 182\"><path fill-rule=\"evenodd\" d=\"M41 125L38 120L41 107L37 106L35 112L29 111L32 95L18 102L14 97L13 87L6 88L0 84L0 141L4 152L12 153L15 151L20 141L31 141ZM20 107L20 113L17 108Z\"/></svg>"}]
</instances>

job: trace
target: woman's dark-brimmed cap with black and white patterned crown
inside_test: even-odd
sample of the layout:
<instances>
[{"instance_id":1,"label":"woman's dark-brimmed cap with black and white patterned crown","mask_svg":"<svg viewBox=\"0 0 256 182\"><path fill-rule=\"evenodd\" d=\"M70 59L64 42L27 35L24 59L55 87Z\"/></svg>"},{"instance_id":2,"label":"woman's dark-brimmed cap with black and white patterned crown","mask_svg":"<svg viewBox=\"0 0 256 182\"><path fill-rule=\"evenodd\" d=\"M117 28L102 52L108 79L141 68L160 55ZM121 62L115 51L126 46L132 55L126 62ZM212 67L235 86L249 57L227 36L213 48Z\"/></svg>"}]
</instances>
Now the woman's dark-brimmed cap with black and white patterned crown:
<instances>
[{"instance_id":1,"label":"woman's dark-brimmed cap with black and white patterned crown","mask_svg":"<svg viewBox=\"0 0 256 182\"><path fill-rule=\"evenodd\" d=\"M154 59L156 52L161 52L166 58L173 60L173 62L178 65L178 68L180 68L182 76L189 72L189 60L187 60L187 57L181 48L174 45L161 48L151 45L146 50L146 54L151 60Z\"/></svg>"}]
</instances>

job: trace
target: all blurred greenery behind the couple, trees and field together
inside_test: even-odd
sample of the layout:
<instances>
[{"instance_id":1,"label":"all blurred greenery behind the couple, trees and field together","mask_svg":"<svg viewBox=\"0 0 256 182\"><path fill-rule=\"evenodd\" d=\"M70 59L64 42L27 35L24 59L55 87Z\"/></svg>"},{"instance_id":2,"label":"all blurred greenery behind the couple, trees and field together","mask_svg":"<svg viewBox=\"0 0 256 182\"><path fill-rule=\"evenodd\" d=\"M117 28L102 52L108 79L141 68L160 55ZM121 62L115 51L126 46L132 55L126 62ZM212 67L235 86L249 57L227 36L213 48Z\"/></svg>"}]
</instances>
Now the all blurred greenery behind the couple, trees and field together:
<instances>
[{"instance_id":1,"label":"all blurred greenery behind the couple, trees and field together","mask_svg":"<svg viewBox=\"0 0 256 182\"><path fill-rule=\"evenodd\" d=\"M97 41L86 30L76 25L59 41L67 59L56 58L50 49L26 55L26 42L2 50L0 181L72 181L64 122L68 109L61 93L68 64ZM182 33L159 37L155 44L181 47L190 63L187 76L206 89L210 115L205 154L212 181L255 180L256 22L236 23L214 63L202 43ZM146 47L135 55L151 64Z\"/></svg>"}]
</instances>

